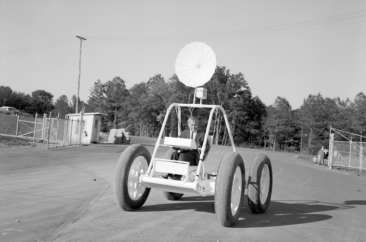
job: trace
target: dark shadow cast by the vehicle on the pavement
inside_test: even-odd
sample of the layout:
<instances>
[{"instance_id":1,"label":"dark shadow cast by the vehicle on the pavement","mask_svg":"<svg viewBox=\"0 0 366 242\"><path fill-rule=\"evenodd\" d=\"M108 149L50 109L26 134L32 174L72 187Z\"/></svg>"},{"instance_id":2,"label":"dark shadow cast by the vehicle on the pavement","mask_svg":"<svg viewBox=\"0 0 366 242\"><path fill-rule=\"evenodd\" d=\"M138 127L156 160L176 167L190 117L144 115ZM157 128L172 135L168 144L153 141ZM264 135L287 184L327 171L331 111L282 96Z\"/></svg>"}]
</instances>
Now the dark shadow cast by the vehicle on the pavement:
<instances>
[{"instance_id":1,"label":"dark shadow cast by the vehicle on the pavement","mask_svg":"<svg viewBox=\"0 0 366 242\"><path fill-rule=\"evenodd\" d=\"M333 218L321 212L355 208L354 205L366 205L363 200L344 201L340 204L323 203L321 201L271 201L268 209L262 214L252 213L248 207L247 196L240 218L233 228L255 228L286 226L303 223L313 223ZM182 197L168 204L143 206L139 212L194 210L197 212L215 213L214 196Z\"/></svg>"}]
</instances>

